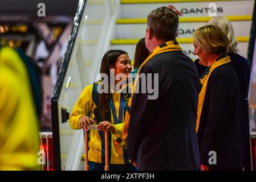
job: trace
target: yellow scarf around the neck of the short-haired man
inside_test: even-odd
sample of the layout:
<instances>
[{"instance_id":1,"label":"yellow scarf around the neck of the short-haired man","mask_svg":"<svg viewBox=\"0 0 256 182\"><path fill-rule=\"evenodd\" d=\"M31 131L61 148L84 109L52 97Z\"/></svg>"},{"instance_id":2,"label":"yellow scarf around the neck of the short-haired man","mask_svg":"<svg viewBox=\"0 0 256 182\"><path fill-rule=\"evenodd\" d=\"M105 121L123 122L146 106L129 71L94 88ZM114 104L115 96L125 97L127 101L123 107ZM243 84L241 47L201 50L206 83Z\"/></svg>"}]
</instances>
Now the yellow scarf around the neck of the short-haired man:
<instances>
[{"instance_id":1,"label":"yellow scarf around the neck of the short-haired man","mask_svg":"<svg viewBox=\"0 0 256 182\"><path fill-rule=\"evenodd\" d=\"M157 46L153 52L151 53L151 55L149 55L147 57L147 59L143 62L143 64L141 64L140 68L139 68L139 71L137 72L137 76L136 76L136 79L135 79L135 84L133 84L133 87L132 87L132 96L131 98L129 99L129 102L128 102L128 107L131 108L132 106L132 97L133 97L133 93L135 93L135 88L136 88L136 84L137 84L137 80L139 78L139 74L140 74L140 70L141 68L143 67L144 64L147 63L147 61L149 59L151 59L153 56L156 56L160 53L164 53L164 52L170 52L170 51L182 51L180 45L177 43L177 42L173 42L173 41L170 41L170 42L165 42L164 44L161 44L160 46ZM124 126L123 126L123 139L126 139L127 138L127 133L128 133L128 126L129 126L129 120L130 120L130 113L129 111L125 114L125 119L124 119Z\"/></svg>"}]
</instances>

